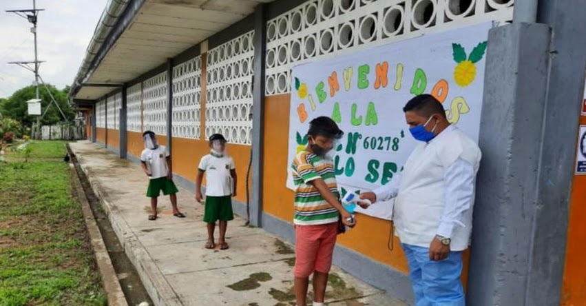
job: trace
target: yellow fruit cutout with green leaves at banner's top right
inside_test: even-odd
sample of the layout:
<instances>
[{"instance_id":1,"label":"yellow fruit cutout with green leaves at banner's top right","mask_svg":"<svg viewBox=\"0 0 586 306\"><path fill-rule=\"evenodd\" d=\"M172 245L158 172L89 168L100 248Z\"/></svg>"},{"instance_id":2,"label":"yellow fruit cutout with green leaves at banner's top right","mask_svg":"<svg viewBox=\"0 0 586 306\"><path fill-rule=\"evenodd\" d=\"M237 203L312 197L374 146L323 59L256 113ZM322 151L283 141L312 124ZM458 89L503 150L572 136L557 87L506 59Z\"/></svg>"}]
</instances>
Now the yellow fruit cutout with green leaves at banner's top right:
<instances>
[{"instance_id":1,"label":"yellow fruit cutout with green leaves at banner's top right","mask_svg":"<svg viewBox=\"0 0 586 306\"><path fill-rule=\"evenodd\" d=\"M476 79L476 63L484 56L486 43L484 41L474 47L470 56L466 56L466 51L459 43L452 43L454 61L458 63L454 69L454 81L459 86L466 87Z\"/></svg>"}]
</instances>

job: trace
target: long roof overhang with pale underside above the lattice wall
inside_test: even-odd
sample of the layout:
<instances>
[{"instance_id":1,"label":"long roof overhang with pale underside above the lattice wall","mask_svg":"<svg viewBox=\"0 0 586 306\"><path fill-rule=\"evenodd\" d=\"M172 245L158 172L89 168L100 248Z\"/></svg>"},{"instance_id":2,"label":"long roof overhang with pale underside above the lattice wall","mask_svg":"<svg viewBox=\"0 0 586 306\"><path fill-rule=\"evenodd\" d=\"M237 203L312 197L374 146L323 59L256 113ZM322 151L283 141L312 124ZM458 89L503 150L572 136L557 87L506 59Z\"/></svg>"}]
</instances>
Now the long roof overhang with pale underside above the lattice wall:
<instances>
[{"instance_id":1,"label":"long roof overhang with pale underside above the lattice wall","mask_svg":"<svg viewBox=\"0 0 586 306\"><path fill-rule=\"evenodd\" d=\"M74 99L99 99L112 85L132 81L252 14L272 0L114 0L127 5L118 17L103 15L72 85ZM109 18L109 20L108 20ZM107 37L96 37L107 29ZM118 37L116 37L118 36ZM102 43L96 45L96 41ZM90 48L99 52L90 52ZM88 85L85 85L88 84ZM89 85L93 84L93 85ZM100 86L100 85L110 86Z\"/></svg>"}]
</instances>

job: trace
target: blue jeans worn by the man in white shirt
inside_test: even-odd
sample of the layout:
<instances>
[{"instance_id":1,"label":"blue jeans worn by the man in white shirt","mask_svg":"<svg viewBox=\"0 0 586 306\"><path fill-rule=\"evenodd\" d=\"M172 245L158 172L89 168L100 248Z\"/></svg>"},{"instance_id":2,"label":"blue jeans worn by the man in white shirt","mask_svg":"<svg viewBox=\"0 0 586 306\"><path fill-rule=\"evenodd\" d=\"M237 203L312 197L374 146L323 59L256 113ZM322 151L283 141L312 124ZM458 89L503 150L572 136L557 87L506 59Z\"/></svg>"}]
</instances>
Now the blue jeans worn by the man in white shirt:
<instances>
[{"instance_id":1,"label":"blue jeans worn by the man in white shirt","mask_svg":"<svg viewBox=\"0 0 586 306\"><path fill-rule=\"evenodd\" d=\"M443 261L431 261L427 247L401 244L409 264L409 278L417 306L464 306L460 281L462 252L450 252Z\"/></svg>"}]
</instances>

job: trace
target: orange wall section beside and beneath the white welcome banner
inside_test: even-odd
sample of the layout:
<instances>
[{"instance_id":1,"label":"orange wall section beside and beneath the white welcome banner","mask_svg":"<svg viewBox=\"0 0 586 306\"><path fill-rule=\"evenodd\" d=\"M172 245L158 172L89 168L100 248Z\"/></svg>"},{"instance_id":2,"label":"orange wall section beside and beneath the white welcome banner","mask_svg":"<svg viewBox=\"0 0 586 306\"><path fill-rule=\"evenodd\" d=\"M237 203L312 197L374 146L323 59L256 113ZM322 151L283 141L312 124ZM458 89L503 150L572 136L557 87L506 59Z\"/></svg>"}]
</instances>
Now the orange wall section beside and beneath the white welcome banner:
<instances>
[{"instance_id":1,"label":"orange wall section beside and beneath the white welcome banner","mask_svg":"<svg viewBox=\"0 0 586 306\"><path fill-rule=\"evenodd\" d=\"M291 223L293 220L293 191L285 187L287 147L289 137L289 94L266 96L264 105L264 212ZM390 221L357 214L357 227L338 236L338 243L363 254L374 261L408 272L406 258L393 237L393 251L388 238ZM468 274L468 252L465 254L463 283Z\"/></svg>"}]
</instances>

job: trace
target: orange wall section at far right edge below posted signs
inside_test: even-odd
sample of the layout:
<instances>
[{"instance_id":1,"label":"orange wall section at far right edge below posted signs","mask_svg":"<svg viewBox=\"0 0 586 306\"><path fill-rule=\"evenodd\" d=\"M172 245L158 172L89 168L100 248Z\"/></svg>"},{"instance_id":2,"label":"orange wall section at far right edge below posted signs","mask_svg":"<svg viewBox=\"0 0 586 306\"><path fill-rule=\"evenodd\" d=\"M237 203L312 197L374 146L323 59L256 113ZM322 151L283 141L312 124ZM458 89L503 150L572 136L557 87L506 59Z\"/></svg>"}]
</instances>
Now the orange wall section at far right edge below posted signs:
<instances>
[{"instance_id":1,"label":"orange wall section at far right edge below posted signs","mask_svg":"<svg viewBox=\"0 0 586 306\"><path fill-rule=\"evenodd\" d=\"M580 118L586 125L586 116ZM562 288L562 306L586 305L586 176L574 175L569 201L569 225Z\"/></svg>"}]
</instances>

